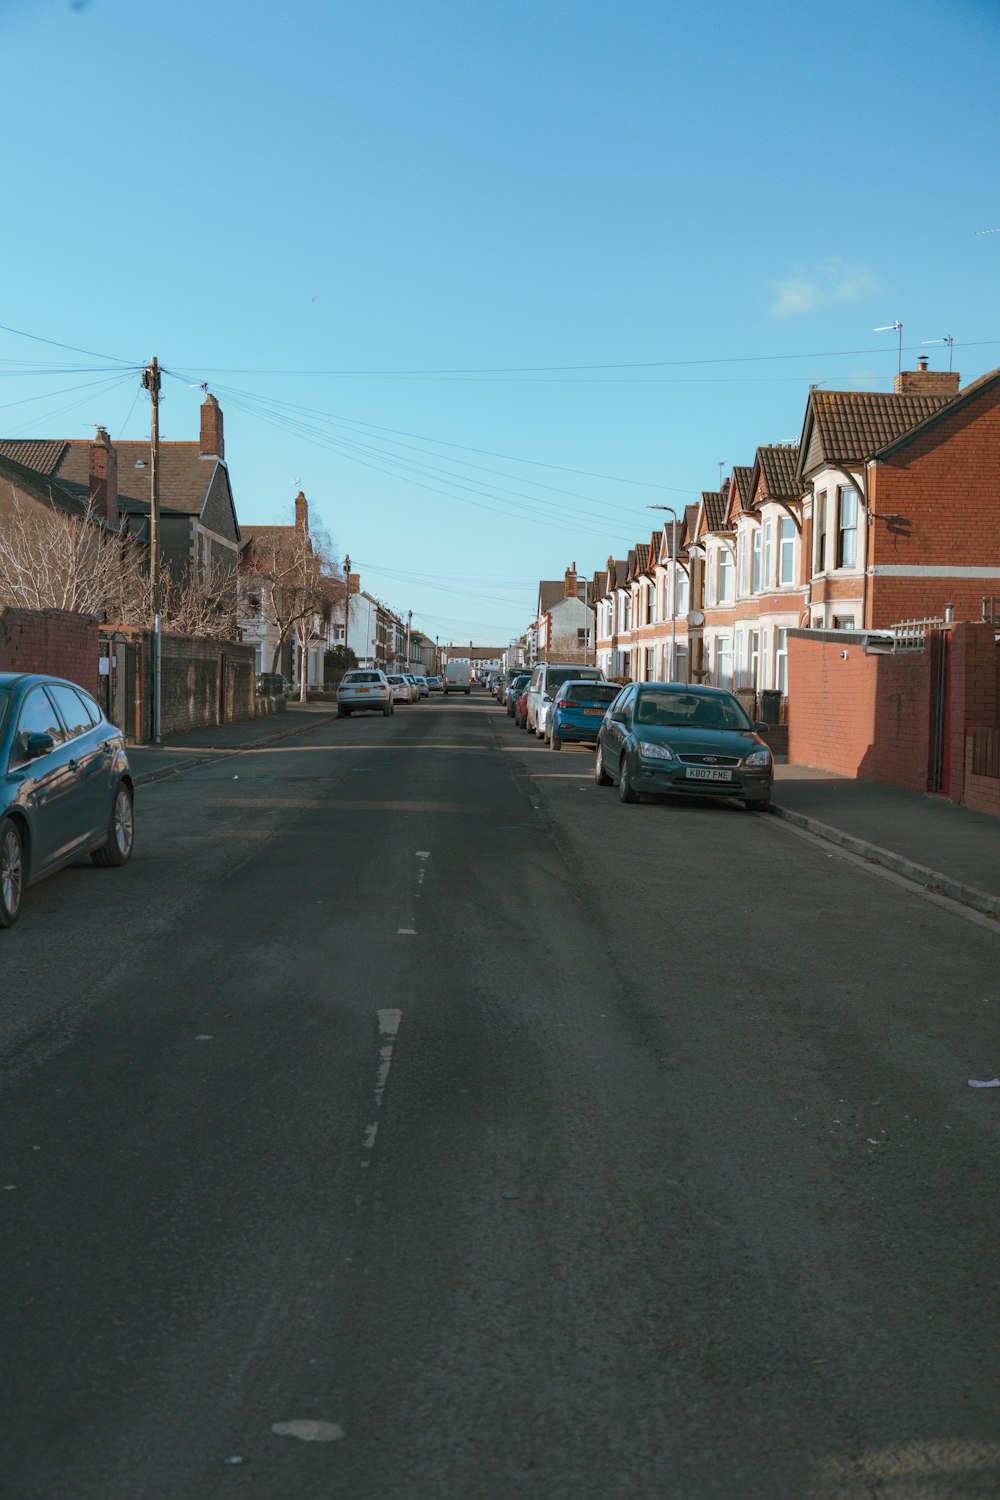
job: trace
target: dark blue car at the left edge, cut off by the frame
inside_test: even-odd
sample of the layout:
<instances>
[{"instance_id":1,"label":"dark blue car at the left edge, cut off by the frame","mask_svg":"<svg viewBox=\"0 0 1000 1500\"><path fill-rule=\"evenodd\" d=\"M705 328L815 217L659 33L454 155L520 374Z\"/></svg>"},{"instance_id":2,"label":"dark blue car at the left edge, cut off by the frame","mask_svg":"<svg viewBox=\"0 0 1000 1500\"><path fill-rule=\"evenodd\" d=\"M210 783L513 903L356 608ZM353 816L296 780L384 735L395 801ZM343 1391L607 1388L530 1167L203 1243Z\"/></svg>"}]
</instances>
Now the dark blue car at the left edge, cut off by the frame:
<instances>
[{"instance_id":1,"label":"dark blue car at the left edge, cut off by the frame","mask_svg":"<svg viewBox=\"0 0 1000 1500\"><path fill-rule=\"evenodd\" d=\"M135 818L124 735L82 687L0 672L0 927L28 885L88 854L132 858Z\"/></svg>"}]
</instances>

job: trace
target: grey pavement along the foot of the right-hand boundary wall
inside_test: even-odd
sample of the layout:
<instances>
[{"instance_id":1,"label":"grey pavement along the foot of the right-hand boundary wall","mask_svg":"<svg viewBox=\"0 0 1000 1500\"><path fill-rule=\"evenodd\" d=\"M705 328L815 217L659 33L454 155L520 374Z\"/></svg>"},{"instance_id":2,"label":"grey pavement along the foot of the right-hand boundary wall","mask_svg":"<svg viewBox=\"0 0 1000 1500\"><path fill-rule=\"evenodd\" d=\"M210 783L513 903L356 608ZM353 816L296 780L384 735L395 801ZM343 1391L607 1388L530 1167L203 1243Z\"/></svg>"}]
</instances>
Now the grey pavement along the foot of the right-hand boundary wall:
<instances>
[{"instance_id":1,"label":"grey pavement along the foot of the right-hand boundary wall","mask_svg":"<svg viewBox=\"0 0 1000 1500\"><path fill-rule=\"evenodd\" d=\"M919 885L1000 916L999 818L805 765L775 765L771 810Z\"/></svg>"}]
</instances>

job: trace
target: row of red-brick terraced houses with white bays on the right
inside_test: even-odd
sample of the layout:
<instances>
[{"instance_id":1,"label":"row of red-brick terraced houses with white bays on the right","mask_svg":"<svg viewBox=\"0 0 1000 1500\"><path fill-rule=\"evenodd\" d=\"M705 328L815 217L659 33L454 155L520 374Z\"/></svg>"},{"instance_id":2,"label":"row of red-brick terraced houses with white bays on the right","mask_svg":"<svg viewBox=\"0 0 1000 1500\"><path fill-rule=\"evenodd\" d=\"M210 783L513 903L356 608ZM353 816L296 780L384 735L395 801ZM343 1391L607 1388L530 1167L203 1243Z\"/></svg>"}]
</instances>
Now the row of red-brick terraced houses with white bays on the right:
<instances>
[{"instance_id":1,"label":"row of red-brick terraced houses with white bays on the right","mask_svg":"<svg viewBox=\"0 0 1000 1500\"><path fill-rule=\"evenodd\" d=\"M813 388L798 444L759 447L595 574L597 662L784 696L790 632L991 620L999 474L1000 369L963 390L921 358L892 392Z\"/></svg>"}]
</instances>

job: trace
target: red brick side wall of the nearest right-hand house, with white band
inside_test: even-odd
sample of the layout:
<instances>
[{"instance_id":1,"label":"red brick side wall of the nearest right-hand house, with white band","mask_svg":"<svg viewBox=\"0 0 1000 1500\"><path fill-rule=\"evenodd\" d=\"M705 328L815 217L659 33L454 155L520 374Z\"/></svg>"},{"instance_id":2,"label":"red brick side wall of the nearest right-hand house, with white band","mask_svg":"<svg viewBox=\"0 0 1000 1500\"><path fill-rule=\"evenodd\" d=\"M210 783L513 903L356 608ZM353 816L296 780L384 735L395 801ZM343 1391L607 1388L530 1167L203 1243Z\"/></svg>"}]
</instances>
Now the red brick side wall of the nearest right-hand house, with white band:
<instances>
[{"instance_id":1,"label":"red brick side wall of the nearest right-hand house, with white band","mask_svg":"<svg viewBox=\"0 0 1000 1500\"><path fill-rule=\"evenodd\" d=\"M1000 384L870 470L870 564L1000 567L999 472ZM889 514L900 519L882 519ZM955 604L957 620L979 620L1000 579L876 576L870 588L868 622L879 628L939 616L945 604Z\"/></svg>"}]
</instances>

